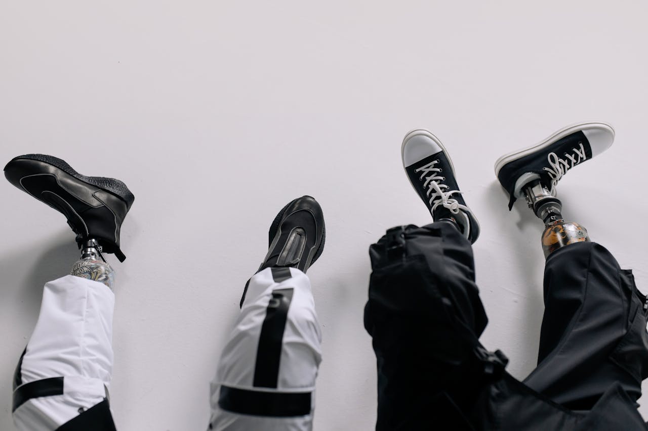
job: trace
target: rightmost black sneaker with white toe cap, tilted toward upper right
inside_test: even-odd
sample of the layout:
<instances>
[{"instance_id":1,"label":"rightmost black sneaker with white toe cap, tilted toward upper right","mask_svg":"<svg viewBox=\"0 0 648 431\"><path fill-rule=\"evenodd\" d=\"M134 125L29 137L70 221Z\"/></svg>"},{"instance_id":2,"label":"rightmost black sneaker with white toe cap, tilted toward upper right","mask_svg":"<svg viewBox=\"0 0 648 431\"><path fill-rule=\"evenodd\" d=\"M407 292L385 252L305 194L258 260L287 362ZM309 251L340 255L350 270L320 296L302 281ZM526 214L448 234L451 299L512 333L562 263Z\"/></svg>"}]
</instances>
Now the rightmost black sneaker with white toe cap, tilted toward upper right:
<instances>
[{"instance_id":1,"label":"rightmost black sneaker with white toe cap, tilted toward upper right","mask_svg":"<svg viewBox=\"0 0 648 431\"><path fill-rule=\"evenodd\" d=\"M614 129L605 123L583 123L564 127L539 144L503 155L495 162L495 175L509 193L509 210L524 186L540 181L555 196L556 184L568 170L608 149Z\"/></svg>"}]
</instances>

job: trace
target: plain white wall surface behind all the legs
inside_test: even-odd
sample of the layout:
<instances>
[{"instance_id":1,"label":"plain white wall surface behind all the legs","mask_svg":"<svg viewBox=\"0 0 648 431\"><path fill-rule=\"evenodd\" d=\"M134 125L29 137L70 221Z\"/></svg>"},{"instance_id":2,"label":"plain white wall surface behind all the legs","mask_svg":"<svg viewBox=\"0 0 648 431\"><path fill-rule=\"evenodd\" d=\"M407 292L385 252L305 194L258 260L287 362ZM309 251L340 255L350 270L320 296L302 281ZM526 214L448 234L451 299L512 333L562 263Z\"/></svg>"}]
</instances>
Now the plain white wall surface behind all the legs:
<instances>
[{"instance_id":1,"label":"plain white wall surface behind all the legs","mask_svg":"<svg viewBox=\"0 0 648 431\"><path fill-rule=\"evenodd\" d=\"M648 289L644 1L58 1L0 5L0 160L47 153L136 196L117 271L111 403L121 430L203 430L208 382L244 283L285 203L325 212L308 272L323 326L316 429L370 430L376 378L362 327L367 247L430 221L400 164L428 127L481 222L486 346L524 378L542 318L542 223L513 212L494 161L572 122L612 148L559 185ZM44 282L78 251L65 219L0 184L0 429ZM648 414L647 406L642 413Z\"/></svg>"}]
</instances>

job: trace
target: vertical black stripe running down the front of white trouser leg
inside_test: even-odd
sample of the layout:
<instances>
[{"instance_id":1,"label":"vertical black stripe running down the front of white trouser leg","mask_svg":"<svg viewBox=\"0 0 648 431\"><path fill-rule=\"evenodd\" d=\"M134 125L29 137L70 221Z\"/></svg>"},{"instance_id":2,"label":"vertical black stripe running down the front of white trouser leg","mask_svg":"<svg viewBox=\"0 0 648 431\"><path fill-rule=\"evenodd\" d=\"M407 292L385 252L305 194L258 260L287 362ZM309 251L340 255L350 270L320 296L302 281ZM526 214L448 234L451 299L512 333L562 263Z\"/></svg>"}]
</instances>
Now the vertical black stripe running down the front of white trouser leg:
<instances>
[{"instance_id":1,"label":"vertical black stripe running down the front of white trouser leg","mask_svg":"<svg viewBox=\"0 0 648 431\"><path fill-rule=\"evenodd\" d=\"M263 320L259 335L259 347L257 348L257 364L254 370L253 385L258 388L277 387L281 344L292 294L293 289L277 289L272 292L266 318Z\"/></svg>"}]
</instances>

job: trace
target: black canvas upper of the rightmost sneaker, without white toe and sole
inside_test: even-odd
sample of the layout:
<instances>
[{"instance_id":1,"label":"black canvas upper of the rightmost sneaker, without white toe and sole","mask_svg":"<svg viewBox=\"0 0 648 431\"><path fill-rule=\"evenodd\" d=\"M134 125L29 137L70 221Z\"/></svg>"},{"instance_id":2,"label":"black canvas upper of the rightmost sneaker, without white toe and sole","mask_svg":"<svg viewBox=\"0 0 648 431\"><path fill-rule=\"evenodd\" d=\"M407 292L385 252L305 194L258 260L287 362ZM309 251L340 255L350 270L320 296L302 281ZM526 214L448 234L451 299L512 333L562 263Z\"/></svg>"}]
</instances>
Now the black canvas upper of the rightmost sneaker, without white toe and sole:
<instances>
[{"instance_id":1,"label":"black canvas upper of the rightmost sneaker, without white toe and sole","mask_svg":"<svg viewBox=\"0 0 648 431\"><path fill-rule=\"evenodd\" d=\"M572 133L571 135L553 142L545 148L538 149L538 151L534 151L531 154L515 159L502 166L497 177L503 188L505 188L505 190L509 192L509 195L511 195L509 210L513 208L513 203L516 201L514 191L515 182L518 178L527 172L537 173L540 175L540 181L542 181L546 186L551 187L551 176L543 169L550 166L547 159L548 155L550 153L555 153L560 159L567 159L566 155L573 155L573 148L579 148L581 143L585 150L585 160L591 159L592 148L590 148L590 142L582 131L577 131L576 133ZM581 162L582 161L583 160L581 160Z\"/></svg>"}]
</instances>

